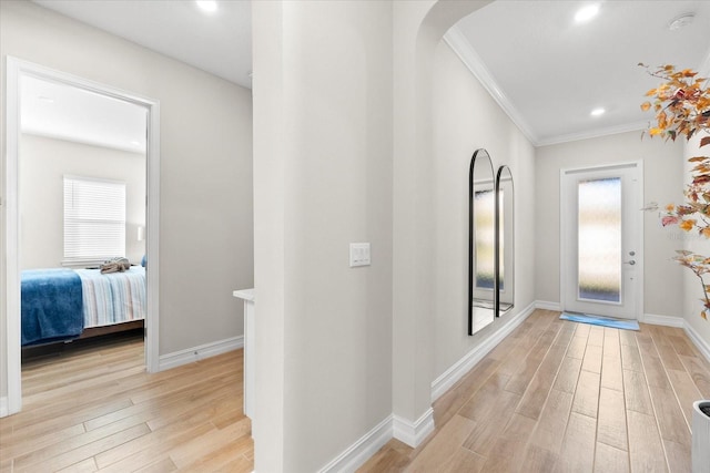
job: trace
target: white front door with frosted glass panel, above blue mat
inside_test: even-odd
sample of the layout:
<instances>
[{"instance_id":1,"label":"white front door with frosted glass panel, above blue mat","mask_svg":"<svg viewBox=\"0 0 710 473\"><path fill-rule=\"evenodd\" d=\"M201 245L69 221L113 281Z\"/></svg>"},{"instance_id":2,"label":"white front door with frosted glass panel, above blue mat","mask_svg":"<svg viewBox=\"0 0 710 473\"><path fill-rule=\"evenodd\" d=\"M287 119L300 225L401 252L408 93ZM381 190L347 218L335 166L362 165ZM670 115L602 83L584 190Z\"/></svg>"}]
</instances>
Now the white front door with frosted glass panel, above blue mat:
<instances>
[{"instance_id":1,"label":"white front door with frosted glass panel, above blue mat","mask_svg":"<svg viewBox=\"0 0 710 473\"><path fill-rule=\"evenodd\" d=\"M643 290L641 162L562 169L562 310L640 319Z\"/></svg>"}]
</instances>

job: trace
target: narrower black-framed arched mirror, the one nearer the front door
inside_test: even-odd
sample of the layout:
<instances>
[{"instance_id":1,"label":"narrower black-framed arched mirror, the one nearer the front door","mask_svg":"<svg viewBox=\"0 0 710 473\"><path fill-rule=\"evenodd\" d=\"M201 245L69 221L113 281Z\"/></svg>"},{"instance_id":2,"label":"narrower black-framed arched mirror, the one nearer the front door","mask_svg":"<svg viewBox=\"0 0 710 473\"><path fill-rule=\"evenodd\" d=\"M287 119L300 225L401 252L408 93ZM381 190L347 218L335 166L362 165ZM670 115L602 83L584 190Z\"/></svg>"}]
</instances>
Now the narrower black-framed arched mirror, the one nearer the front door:
<instances>
[{"instance_id":1,"label":"narrower black-framed arched mirror, the one nearer the front door","mask_svg":"<svg viewBox=\"0 0 710 473\"><path fill-rule=\"evenodd\" d=\"M513 308L515 300L514 187L513 173L500 166L496 175L496 317Z\"/></svg>"}]
</instances>

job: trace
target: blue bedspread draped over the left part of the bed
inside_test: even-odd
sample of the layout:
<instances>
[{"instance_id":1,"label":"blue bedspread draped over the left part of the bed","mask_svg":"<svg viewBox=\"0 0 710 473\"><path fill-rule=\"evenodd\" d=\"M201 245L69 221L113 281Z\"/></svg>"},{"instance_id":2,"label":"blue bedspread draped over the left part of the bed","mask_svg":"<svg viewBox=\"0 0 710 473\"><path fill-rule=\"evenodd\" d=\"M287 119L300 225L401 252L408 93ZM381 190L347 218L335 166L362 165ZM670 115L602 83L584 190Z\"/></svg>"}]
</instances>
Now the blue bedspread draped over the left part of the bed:
<instances>
[{"instance_id":1,"label":"blue bedspread draped over the left part of the bed","mask_svg":"<svg viewBox=\"0 0 710 473\"><path fill-rule=\"evenodd\" d=\"M71 269L22 271L22 345L79 337L84 329L81 278Z\"/></svg>"}]
</instances>

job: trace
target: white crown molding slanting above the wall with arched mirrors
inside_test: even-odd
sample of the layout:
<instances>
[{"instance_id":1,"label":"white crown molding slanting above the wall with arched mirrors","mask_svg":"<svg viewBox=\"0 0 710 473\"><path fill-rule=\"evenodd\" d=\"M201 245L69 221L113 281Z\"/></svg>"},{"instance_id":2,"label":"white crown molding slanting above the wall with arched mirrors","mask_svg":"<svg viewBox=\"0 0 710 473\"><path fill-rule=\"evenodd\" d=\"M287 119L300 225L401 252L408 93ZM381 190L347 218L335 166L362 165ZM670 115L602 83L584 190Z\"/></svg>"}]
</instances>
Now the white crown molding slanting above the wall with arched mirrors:
<instances>
[{"instance_id":1,"label":"white crown molding slanting above the wall with arched mirrors","mask_svg":"<svg viewBox=\"0 0 710 473\"><path fill-rule=\"evenodd\" d=\"M520 132L535 146L537 146L538 137L532 133L523 115L513 105L510 100L503 92L496 80L493 78L484 61L480 59L476 50L470 45L464 33L456 25L452 27L446 34L444 41L449 45L452 51L462 60L464 65L474 74L481 85L488 91L496 103L506 112L508 117L516 124Z\"/></svg>"}]
</instances>

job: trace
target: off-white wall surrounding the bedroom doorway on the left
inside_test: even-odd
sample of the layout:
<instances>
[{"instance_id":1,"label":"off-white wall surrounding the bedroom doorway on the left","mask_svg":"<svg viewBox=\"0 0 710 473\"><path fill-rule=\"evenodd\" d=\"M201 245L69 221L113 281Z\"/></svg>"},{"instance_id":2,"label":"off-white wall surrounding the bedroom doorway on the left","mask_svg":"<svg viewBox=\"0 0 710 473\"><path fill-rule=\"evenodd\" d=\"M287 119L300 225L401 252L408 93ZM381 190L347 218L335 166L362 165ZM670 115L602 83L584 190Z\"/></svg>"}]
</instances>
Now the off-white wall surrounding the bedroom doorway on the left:
<instances>
[{"instance_id":1,"label":"off-white wall surrounding the bedroom doorway on the left","mask_svg":"<svg viewBox=\"0 0 710 473\"><path fill-rule=\"evenodd\" d=\"M160 353L241 335L232 291L253 285L250 91L26 1L0 2L3 100L8 54L160 101ZM0 398L4 370L0 360Z\"/></svg>"}]
</instances>

